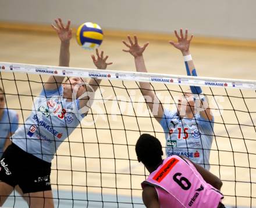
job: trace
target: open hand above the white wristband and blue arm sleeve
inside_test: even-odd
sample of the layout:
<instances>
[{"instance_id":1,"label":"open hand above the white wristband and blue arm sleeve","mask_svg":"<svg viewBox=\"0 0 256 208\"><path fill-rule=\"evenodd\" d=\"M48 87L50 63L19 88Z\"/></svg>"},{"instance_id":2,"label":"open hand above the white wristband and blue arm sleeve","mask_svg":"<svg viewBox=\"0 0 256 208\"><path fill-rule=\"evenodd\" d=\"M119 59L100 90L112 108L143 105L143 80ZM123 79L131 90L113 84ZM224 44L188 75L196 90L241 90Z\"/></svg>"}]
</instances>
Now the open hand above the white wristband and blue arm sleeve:
<instances>
[{"instance_id":1,"label":"open hand above the white wristband and blue arm sleeve","mask_svg":"<svg viewBox=\"0 0 256 208\"><path fill-rule=\"evenodd\" d=\"M188 39L187 38L187 29L185 31L185 35L183 35L183 30L180 29L180 35L177 33L177 31L175 30L175 35L177 37L177 41L178 42L173 42L173 41L169 41L169 43L171 45L173 45L176 49L179 49L181 52L188 52L189 51L189 46L190 46L190 41L193 38L193 35L191 35L191 37Z\"/></svg>"}]
</instances>

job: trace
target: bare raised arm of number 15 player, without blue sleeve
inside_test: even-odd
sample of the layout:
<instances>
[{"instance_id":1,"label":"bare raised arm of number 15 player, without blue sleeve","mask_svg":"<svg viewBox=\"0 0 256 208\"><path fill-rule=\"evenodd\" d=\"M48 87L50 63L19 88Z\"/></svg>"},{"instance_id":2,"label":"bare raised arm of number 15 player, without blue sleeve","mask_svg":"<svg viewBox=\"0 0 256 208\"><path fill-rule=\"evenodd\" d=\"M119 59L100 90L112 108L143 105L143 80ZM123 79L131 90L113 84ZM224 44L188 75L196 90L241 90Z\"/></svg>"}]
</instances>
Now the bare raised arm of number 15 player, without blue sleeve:
<instances>
[{"instance_id":1,"label":"bare raised arm of number 15 player, without blue sleeve","mask_svg":"<svg viewBox=\"0 0 256 208\"><path fill-rule=\"evenodd\" d=\"M123 43L129 48L128 50L123 50L124 52L129 52L133 57L136 65L137 72L147 72L147 68L145 66L145 61L143 57L143 52L145 48L148 46L148 42L144 44L144 46L138 45L138 39L134 36L134 41L131 40L130 36L127 37L130 44L123 41ZM140 82L140 90L143 94L145 101L150 108L152 114L158 122L162 120L163 117L163 107L160 104L160 101L157 95L153 92L150 83L148 82ZM157 111L157 112L156 112Z\"/></svg>"}]
</instances>

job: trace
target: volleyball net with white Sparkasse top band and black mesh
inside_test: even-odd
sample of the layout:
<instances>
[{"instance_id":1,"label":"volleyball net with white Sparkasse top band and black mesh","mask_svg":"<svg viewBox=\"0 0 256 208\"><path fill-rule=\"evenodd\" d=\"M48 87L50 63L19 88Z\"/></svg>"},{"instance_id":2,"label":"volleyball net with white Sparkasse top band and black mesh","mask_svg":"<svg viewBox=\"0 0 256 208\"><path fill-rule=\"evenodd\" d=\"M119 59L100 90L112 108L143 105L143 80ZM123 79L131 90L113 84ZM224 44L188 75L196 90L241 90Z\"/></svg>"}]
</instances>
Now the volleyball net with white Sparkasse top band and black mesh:
<instances>
[{"instance_id":1,"label":"volleyball net with white Sparkasse top band and black mesh","mask_svg":"<svg viewBox=\"0 0 256 208\"><path fill-rule=\"evenodd\" d=\"M189 139L187 145L193 148L186 147L184 156L194 158L200 150L209 151L210 171L223 182L223 203L256 207L255 81L17 63L0 63L0 71L6 108L19 114L19 126L24 126L49 75L102 79L87 116L52 160L55 207L144 207L140 183L148 171L137 161L138 137L152 134L163 148L170 148L184 139L186 129L166 142L166 132L145 103L139 82L149 82L163 108L173 111L180 96L191 93L189 86L202 87L214 116L212 134L207 135L213 138L212 145L199 149L199 143ZM200 132L187 134L202 139ZM14 192L6 206L20 207L19 201L22 198Z\"/></svg>"}]
</instances>

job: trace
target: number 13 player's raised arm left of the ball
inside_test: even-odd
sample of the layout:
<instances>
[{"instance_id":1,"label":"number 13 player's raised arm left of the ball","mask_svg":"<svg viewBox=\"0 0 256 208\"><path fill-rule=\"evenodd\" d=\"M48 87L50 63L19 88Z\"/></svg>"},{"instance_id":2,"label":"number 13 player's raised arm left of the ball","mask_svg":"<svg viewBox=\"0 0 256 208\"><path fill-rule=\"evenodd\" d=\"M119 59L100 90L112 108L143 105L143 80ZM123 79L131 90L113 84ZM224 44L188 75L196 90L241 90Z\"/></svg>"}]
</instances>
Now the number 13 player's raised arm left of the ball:
<instances>
[{"instance_id":1,"label":"number 13 player's raised arm left of the ball","mask_svg":"<svg viewBox=\"0 0 256 208\"><path fill-rule=\"evenodd\" d=\"M72 38L72 30L70 28L70 20L67 21L67 25L64 26L62 20L55 19L56 25L52 24L52 28L57 32L59 39L61 40L61 49L59 53L59 66L69 67L70 53L69 45ZM44 85L46 90L55 90L61 86L65 76L50 76L47 83Z\"/></svg>"}]
</instances>

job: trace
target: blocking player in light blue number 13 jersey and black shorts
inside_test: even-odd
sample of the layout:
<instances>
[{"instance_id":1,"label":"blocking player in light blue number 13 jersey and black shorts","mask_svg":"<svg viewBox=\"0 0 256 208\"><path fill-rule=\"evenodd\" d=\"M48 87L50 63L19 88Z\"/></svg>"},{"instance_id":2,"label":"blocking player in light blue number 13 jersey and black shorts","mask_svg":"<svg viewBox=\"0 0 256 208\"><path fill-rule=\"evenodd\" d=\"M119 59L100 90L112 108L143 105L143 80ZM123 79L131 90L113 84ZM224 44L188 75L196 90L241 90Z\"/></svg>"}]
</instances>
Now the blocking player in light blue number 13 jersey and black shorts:
<instances>
[{"instance_id":1,"label":"blocking player in light blue number 13 jersey and black shorts","mask_svg":"<svg viewBox=\"0 0 256 208\"><path fill-rule=\"evenodd\" d=\"M55 20L56 30L61 40L59 56L60 66L69 66L69 44L72 38L70 21L63 25L61 19ZM97 68L105 70L108 56L98 53L93 55ZM45 69L38 69L42 72ZM65 77L49 76L47 83L35 101L34 109L24 125L13 134L12 144L3 152L0 161L0 206L16 185L22 189L31 208L52 208L50 174L51 160L59 145L69 137L87 115L91 107L90 95L79 98L84 93L94 93L101 80L90 79L86 87L81 78L72 77L62 83ZM87 89L86 89L87 88ZM76 92L76 97L73 98ZM83 111L86 108L86 111Z\"/></svg>"}]
</instances>

